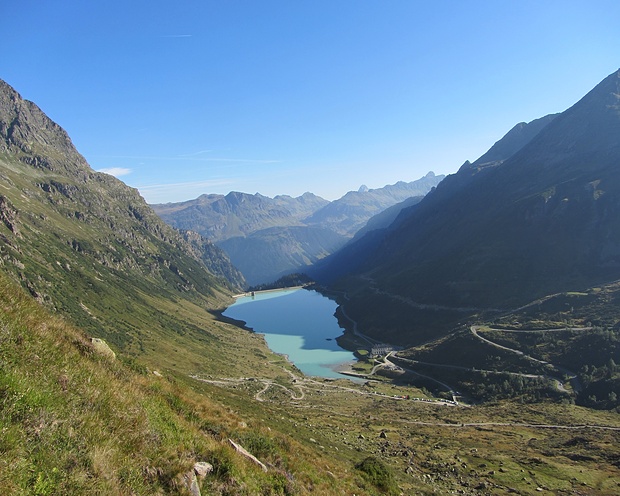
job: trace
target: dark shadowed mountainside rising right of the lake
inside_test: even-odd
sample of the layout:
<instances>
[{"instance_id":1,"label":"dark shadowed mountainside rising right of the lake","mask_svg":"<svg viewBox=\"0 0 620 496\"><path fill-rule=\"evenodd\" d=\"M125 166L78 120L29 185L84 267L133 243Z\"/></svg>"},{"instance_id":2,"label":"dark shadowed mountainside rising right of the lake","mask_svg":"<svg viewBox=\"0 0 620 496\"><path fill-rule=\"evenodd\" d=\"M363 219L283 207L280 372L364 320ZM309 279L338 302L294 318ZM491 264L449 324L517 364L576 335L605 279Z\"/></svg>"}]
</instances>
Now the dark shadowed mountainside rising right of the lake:
<instances>
[{"instance_id":1,"label":"dark shadowed mountainside rising right of the lake","mask_svg":"<svg viewBox=\"0 0 620 496\"><path fill-rule=\"evenodd\" d=\"M501 165L448 177L359 263L352 305L367 317L380 294L401 319L432 307L456 321L620 278L618 95L614 73Z\"/></svg>"}]
</instances>

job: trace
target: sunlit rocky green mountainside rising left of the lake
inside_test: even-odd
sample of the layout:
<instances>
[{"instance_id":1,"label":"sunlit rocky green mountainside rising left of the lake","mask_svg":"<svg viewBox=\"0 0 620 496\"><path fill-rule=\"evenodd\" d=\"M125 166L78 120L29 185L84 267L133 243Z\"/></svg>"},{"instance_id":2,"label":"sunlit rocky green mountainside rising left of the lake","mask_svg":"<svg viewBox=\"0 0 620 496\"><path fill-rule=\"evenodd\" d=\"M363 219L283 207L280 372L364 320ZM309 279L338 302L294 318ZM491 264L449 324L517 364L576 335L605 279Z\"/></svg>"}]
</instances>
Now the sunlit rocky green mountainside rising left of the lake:
<instances>
[{"instance_id":1,"label":"sunlit rocky green mountainside rising left of the lake","mask_svg":"<svg viewBox=\"0 0 620 496\"><path fill-rule=\"evenodd\" d=\"M67 134L4 82L0 177L3 270L117 349L141 353L159 332L190 330L160 301L213 308L245 284L221 250L190 243L136 190L94 172Z\"/></svg>"}]
</instances>

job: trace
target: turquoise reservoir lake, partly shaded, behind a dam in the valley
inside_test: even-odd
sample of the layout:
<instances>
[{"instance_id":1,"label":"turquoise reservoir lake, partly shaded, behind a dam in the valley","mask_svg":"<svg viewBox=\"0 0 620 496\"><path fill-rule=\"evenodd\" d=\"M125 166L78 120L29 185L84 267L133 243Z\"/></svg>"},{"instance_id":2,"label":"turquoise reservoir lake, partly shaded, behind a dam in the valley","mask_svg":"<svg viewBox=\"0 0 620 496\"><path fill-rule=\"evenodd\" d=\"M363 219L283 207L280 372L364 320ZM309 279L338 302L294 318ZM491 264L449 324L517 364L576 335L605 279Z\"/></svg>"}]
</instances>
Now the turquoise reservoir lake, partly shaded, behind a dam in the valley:
<instances>
[{"instance_id":1,"label":"turquoise reservoir lake, partly shaded, behind a dam in the valley","mask_svg":"<svg viewBox=\"0 0 620 496\"><path fill-rule=\"evenodd\" d=\"M355 356L336 342L343 333L334 316L337 306L316 291L290 289L240 297L224 315L264 334L269 348L288 355L304 374L345 378L335 369Z\"/></svg>"}]
</instances>

